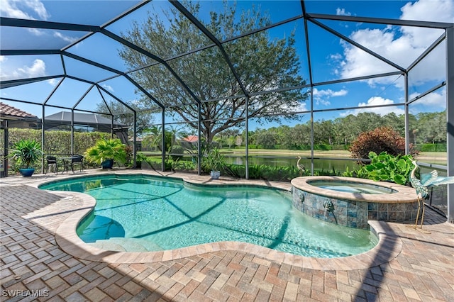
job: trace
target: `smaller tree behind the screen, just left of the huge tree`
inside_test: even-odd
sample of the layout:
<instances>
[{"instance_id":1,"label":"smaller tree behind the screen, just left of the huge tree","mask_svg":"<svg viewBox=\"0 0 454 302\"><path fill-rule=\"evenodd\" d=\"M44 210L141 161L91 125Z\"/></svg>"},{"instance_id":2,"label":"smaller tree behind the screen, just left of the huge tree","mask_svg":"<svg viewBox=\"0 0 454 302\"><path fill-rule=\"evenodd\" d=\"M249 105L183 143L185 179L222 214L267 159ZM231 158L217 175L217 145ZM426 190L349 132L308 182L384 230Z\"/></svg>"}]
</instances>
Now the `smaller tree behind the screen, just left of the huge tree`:
<instances>
[{"instance_id":1,"label":"smaller tree behind the screen, just left of the huge tree","mask_svg":"<svg viewBox=\"0 0 454 302\"><path fill-rule=\"evenodd\" d=\"M135 110L140 110L140 107L133 104L132 102L126 102L126 104L128 104L128 106L131 106L131 108L134 108ZM108 106L109 106L109 108L108 108ZM126 108L126 106L124 106L123 104L121 104L118 101L111 101L108 103L108 106L106 106L105 103L97 104L96 111L109 112L109 109L110 109L111 113L113 113L113 114L117 113L117 115L114 115L114 121L116 121L118 123L122 123L123 125L130 126L131 127L130 132L131 132L132 127L134 125L133 112L131 110L129 110L128 108ZM118 113L121 113L121 114L118 114ZM104 115L104 114L102 114L102 116L111 118L111 116ZM151 123L153 123L153 113L150 113L149 111L148 112L139 111L137 113L137 134L138 135L142 134L145 130L148 129L148 126ZM130 133L130 134L132 135L132 133Z\"/></svg>"}]
</instances>

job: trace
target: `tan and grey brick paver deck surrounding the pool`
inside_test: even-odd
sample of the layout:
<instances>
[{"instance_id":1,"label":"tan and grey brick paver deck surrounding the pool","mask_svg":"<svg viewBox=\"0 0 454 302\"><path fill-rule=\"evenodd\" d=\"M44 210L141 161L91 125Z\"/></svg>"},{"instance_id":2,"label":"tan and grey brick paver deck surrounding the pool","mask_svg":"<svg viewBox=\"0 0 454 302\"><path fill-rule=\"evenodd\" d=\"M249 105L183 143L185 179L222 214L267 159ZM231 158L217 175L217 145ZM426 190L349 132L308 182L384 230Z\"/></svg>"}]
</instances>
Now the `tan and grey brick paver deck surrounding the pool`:
<instances>
[{"instance_id":1,"label":"tan and grey brick paver deck surrounding the pool","mask_svg":"<svg viewBox=\"0 0 454 302\"><path fill-rule=\"evenodd\" d=\"M423 226L430 234L409 228L411 222L375 222L381 245L348 259L293 257L235 242L121 254L74 246L68 223L89 211L87 198L37 189L67 177L0 179L1 301L454 301L454 225L430 209Z\"/></svg>"}]
</instances>

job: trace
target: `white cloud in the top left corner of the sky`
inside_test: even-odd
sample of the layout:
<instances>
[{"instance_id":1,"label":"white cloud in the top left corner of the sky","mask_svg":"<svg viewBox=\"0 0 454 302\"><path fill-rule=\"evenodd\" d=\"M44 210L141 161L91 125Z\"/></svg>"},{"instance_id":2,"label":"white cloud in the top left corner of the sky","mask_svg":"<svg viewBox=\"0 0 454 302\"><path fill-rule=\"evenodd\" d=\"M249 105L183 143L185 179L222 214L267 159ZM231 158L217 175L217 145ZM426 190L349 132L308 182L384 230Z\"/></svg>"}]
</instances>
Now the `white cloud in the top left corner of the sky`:
<instances>
[{"instance_id":1,"label":"white cloud in the top left corner of the sky","mask_svg":"<svg viewBox=\"0 0 454 302\"><path fill-rule=\"evenodd\" d=\"M39 0L2 0L1 15L9 18L48 20L50 17Z\"/></svg>"}]
</instances>

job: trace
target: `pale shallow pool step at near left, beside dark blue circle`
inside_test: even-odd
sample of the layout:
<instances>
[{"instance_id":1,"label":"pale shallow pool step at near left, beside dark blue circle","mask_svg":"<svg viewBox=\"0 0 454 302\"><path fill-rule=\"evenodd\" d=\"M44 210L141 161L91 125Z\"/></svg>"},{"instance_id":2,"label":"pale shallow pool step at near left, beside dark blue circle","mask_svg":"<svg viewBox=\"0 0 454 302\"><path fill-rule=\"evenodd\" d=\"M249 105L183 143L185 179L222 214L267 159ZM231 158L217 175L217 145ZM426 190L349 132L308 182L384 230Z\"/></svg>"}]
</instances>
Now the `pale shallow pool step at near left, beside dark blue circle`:
<instances>
[{"instance_id":1,"label":"pale shallow pool step at near left, beside dark blue circle","mask_svg":"<svg viewBox=\"0 0 454 302\"><path fill-rule=\"evenodd\" d=\"M136 238L111 237L105 240L96 240L89 243L94 247L102 250L111 250L116 252L148 252L163 250L162 247L148 240Z\"/></svg>"}]
</instances>

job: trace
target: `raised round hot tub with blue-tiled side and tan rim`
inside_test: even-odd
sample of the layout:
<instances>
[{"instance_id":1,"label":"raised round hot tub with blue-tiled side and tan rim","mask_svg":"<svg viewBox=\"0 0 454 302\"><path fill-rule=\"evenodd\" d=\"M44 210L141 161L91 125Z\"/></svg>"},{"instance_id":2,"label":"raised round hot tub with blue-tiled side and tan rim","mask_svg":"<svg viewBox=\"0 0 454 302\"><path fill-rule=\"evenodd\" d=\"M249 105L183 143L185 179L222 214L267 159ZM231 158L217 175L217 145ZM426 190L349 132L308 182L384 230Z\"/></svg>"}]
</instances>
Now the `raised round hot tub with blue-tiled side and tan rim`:
<instances>
[{"instance_id":1,"label":"raised round hot tub with blue-tiled side and tan rim","mask_svg":"<svg viewBox=\"0 0 454 302\"><path fill-rule=\"evenodd\" d=\"M370 179L297 177L292 196L299 211L352 228L369 228L367 220L414 220L418 211L413 188Z\"/></svg>"}]
</instances>

